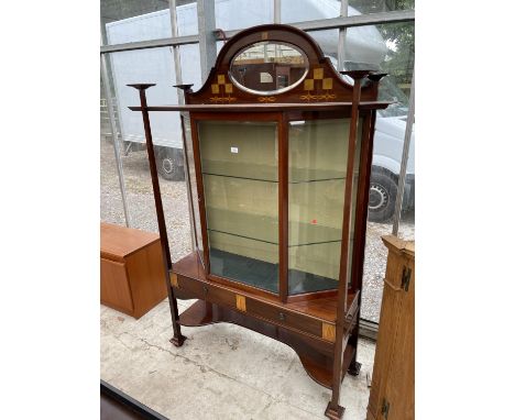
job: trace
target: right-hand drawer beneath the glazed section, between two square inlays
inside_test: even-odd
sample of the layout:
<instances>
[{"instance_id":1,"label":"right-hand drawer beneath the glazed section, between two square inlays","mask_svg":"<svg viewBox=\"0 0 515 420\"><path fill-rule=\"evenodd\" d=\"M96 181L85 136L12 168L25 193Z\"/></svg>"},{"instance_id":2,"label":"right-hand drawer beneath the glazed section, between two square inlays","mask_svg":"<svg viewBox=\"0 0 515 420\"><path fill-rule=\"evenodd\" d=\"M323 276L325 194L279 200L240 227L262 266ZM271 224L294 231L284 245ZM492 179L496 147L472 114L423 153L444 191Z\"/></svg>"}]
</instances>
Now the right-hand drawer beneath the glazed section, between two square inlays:
<instances>
[{"instance_id":1,"label":"right-hand drawer beneath the glazed section, between two square inlays","mask_svg":"<svg viewBox=\"0 0 515 420\"><path fill-rule=\"evenodd\" d=\"M305 331L316 336L321 336L321 321L291 312L271 305L262 303L254 299L246 299L246 312L274 323Z\"/></svg>"}]
</instances>

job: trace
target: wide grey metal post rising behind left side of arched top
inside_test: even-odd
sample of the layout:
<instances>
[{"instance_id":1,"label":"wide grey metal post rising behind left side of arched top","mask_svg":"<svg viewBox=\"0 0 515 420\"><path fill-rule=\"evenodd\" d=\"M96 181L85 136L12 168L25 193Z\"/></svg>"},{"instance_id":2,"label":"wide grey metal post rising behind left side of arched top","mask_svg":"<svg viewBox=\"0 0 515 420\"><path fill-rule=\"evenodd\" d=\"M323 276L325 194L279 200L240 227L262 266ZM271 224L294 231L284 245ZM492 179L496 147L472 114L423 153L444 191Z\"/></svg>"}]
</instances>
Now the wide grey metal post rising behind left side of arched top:
<instances>
[{"instance_id":1,"label":"wide grey metal post rising behind left side of arched top","mask_svg":"<svg viewBox=\"0 0 515 420\"><path fill-rule=\"evenodd\" d=\"M198 40L202 84L217 60L215 0L197 0Z\"/></svg>"}]
</instances>

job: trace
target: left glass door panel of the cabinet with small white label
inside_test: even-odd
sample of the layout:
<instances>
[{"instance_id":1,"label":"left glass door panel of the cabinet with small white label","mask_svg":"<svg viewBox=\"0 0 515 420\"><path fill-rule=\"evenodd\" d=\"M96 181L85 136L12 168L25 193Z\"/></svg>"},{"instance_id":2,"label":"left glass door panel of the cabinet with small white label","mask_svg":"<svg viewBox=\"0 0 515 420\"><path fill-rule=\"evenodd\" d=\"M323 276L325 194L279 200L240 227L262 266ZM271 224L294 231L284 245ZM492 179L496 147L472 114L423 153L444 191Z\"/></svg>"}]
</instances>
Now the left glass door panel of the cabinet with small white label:
<instances>
[{"instance_id":1,"label":"left glass door panel of the cabinet with small white label","mask_svg":"<svg viewBox=\"0 0 515 420\"><path fill-rule=\"evenodd\" d=\"M210 272L278 292L277 124L197 126Z\"/></svg>"}]
</instances>

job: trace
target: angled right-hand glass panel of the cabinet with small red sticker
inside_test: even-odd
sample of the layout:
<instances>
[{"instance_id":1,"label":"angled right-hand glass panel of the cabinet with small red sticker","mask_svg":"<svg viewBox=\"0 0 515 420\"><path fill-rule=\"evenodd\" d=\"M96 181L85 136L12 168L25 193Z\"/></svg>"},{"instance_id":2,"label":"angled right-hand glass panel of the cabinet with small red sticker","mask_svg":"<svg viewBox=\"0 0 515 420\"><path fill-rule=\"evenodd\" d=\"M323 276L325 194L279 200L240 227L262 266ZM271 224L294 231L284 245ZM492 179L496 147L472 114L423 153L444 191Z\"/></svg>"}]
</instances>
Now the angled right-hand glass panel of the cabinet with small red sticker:
<instances>
[{"instance_id":1,"label":"angled right-hand glass panel of the cabinet with small red sticker","mask_svg":"<svg viewBox=\"0 0 515 420\"><path fill-rule=\"evenodd\" d=\"M289 123L291 295L338 287L349 123L350 119ZM360 144L361 121L358 137ZM358 173L359 158L355 165ZM352 230L349 252L352 252Z\"/></svg>"}]
</instances>

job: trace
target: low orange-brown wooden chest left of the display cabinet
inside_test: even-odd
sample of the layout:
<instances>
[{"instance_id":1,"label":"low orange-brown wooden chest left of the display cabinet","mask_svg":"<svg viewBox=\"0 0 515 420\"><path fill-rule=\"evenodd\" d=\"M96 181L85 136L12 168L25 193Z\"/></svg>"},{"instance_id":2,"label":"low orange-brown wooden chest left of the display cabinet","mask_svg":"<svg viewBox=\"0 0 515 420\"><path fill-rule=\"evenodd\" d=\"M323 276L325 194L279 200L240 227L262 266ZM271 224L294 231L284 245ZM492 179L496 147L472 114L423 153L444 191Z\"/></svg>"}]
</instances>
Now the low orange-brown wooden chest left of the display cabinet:
<instances>
[{"instance_id":1,"label":"low orange-brown wooden chest left of the display cabinet","mask_svg":"<svg viewBox=\"0 0 515 420\"><path fill-rule=\"evenodd\" d=\"M101 303L138 319L166 296L160 235L101 223Z\"/></svg>"}]
</instances>

